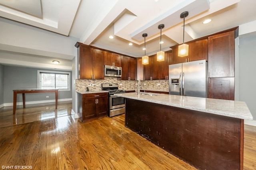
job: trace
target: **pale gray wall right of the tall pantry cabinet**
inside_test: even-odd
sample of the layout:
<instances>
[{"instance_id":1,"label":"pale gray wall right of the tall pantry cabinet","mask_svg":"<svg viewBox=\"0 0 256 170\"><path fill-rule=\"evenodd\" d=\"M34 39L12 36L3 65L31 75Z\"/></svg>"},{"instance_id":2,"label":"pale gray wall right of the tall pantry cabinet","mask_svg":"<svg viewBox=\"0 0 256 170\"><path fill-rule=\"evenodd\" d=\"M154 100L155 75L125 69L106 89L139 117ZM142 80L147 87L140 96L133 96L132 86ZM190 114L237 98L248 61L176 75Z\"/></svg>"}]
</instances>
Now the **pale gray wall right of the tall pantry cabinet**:
<instances>
[{"instance_id":1,"label":"pale gray wall right of the tall pantry cabinet","mask_svg":"<svg viewBox=\"0 0 256 170\"><path fill-rule=\"evenodd\" d=\"M256 120L256 35L239 40L239 100L246 102Z\"/></svg>"}]
</instances>

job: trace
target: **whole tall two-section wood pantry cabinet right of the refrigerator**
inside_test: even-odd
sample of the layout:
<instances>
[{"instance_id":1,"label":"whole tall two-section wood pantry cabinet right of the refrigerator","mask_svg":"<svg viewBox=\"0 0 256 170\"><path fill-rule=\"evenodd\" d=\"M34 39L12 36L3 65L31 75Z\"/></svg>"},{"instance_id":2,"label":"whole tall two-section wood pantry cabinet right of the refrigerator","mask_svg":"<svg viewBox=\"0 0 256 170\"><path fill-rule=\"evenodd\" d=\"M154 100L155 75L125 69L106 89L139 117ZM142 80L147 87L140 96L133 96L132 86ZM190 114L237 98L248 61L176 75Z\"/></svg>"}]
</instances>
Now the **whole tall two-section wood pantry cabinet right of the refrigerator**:
<instances>
[{"instance_id":1,"label":"whole tall two-section wood pantry cabinet right of the refrigerator","mask_svg":"<svg viewBox=\"0 0 256 170\"><path fill-rule=\"evenodd\" d=\"M234 100L237 36L238 27L208 37L208 98Z\"/></svg>"}]
</instances>

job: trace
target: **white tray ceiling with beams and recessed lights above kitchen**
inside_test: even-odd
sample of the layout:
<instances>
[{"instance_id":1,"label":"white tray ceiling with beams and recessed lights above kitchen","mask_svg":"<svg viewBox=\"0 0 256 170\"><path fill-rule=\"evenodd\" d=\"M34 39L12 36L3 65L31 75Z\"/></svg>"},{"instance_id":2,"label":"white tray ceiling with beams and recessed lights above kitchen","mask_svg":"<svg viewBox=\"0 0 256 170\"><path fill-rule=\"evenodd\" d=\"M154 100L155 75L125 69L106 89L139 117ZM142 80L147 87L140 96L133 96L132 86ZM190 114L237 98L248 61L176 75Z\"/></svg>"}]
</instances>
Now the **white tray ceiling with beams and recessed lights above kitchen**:
<instances>
[{"instance_id":1,"label":"white tray ceiling with beams and recessed lights above kitchen","mask_svg":"<svg viewBox=\"0 0 256 170\"><path fill-rule=\"evenodd\" d=\"M180 14L184 11L189 12L185 18L186 42L256 21L255 6L255 0L0 0L0 16L76 37L86 45L142 57L143 33L148 34L146 55L160 50L159 24L165 25L162 51L182 43ZM212 22L202 24L208 18Z\"/></svg>"}]
</instances>

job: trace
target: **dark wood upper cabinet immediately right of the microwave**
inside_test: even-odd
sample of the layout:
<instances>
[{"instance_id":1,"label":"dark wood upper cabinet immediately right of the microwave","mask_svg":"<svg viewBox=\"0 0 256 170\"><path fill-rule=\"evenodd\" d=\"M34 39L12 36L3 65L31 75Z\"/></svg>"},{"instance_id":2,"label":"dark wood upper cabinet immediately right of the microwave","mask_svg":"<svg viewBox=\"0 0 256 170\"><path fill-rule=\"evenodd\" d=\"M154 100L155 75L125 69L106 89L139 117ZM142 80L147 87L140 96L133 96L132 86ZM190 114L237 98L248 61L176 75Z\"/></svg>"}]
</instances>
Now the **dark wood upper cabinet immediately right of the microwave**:
<instances>
[{"instance_id":1,"label":"dark wood upper cabinet immediately right of the microwave","mask_svg":"<svg viewBox=\"0 0 256 170\"><path fill-rule=\"evenodd\" d=\"M137 62L135 58L121 56L122 78L121 80L136 80Z\"/></svg>"}]
</instances>

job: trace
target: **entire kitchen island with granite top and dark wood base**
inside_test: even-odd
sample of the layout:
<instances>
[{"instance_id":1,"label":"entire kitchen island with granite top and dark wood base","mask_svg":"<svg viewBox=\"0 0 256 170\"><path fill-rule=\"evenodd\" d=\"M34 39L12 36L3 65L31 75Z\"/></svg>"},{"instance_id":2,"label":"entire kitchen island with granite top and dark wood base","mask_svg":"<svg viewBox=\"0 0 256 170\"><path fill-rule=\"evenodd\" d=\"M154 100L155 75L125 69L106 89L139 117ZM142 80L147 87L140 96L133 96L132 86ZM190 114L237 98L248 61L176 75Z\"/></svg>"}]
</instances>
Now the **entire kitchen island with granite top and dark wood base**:
<instances>
[{"instance_id":1,"label":"entire kitchen island with granite top and dark wood base","mask_svg":"<svg viewBox=\"0 0 256 170\"><path fill-rule=\"evenodd\" d=\"M126 98L125 126L200 170L243 169L245 102L153 93Z\"/></svg>"}]
</instances>

